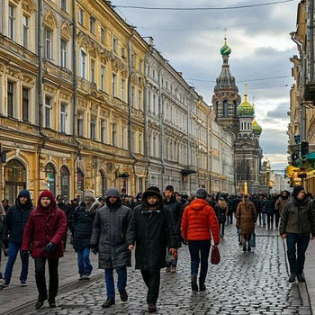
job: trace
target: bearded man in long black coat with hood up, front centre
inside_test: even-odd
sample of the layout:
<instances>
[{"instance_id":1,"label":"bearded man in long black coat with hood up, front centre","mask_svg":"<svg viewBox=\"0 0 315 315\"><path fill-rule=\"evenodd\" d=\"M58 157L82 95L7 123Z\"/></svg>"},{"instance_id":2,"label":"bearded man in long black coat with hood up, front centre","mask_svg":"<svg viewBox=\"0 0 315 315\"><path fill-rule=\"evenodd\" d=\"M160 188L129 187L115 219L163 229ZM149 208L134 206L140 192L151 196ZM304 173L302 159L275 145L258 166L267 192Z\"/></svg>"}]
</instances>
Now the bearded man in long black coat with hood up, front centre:
<instances>
[{"instance_id":1,"label":"bearded man in long black coat with hood up, front centre","mask_svg":"<svg viewBox=\"0 0 315 315\"><path fill-rule=\"evenodd\" d=\"M127 246L136 250L136 269L140 269L148 287L148 312L157 311L160 269L166 267L166 250L175 255L178 238L172 212L163 204L163 195L156 186L142 193L142 204L132 214L127 231Z\"/></svg>"}]
</instances>

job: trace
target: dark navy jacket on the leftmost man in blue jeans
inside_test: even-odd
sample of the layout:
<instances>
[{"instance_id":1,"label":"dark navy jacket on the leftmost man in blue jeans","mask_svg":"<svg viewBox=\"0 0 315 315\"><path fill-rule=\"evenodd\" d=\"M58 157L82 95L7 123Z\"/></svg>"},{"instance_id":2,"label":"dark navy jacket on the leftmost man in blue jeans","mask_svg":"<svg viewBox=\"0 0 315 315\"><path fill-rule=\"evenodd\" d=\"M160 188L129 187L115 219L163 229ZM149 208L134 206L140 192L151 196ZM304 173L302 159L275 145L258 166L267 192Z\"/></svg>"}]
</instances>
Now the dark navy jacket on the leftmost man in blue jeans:
<instances>
[{"instance_id":1,"label":"dark navy jacket on the leftmost man in blue jeans","mask_svg":"<svg viewBox=\"0 0 315 315\"><path fill-rule=\"evenodd\" d=\"M2 238L9 239L14 244L22 244L23 230L33 209L31 201L22 207L19 198L17 198L15 204L9 208L4 216Z\"/></svg>"}]
</instances>

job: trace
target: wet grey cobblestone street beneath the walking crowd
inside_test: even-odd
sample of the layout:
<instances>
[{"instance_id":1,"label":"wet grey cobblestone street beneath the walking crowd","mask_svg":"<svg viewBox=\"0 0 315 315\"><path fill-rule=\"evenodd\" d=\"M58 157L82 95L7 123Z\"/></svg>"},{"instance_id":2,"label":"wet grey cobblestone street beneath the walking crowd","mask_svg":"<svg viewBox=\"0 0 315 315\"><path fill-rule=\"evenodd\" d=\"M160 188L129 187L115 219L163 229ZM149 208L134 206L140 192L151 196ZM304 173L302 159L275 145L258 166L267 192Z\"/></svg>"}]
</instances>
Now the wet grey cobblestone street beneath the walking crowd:
<instances>
[{"instance_id":1,"label":"wet grey cobblestone street beneath the walking crowd","mask_svg":"<svg viewBox=\"0 0 315 315\"><path fill-rule=\"evenodd\" d=\"M229 225L219 247L220 264L209 266L207 290L198 293L193 293L190 287L188 248L179 249L177 272L171 274L161 270L157 314L311 315L306 285L288 283L284 242L277 230L257 227L257 247L251 253L244 253L238 246L235 226ZM93 259L94 266L97 266ZM74 262L72 269L76 269L76 260ZM129 301L121 302L116 296L116 304L109 309L102 309L105 290L103 271L98 270L94 280L78 283L74 278L75 285L67 292L60 290L57 309L49 309L46 303L43 309L35 311L34 300L7 314L147 314L147 290L139 270L134 267L128 270ZM0 302L2 293L9 298L9 290L10 287L0 291Z\"/></svg>"}]
</instances>

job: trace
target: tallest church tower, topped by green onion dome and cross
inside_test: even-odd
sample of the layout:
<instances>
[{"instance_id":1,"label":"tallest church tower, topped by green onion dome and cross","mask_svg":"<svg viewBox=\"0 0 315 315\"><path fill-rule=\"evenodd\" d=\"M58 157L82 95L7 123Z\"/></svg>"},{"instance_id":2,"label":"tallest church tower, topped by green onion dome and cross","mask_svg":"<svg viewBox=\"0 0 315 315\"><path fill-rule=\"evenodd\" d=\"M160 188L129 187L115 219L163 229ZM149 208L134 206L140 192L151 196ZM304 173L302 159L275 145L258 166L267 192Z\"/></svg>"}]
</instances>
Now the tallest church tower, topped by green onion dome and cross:
<instances>
[{"instance_id":1,"label":"tallest church tower, topped by green onion dome and cross","mask_svg":"<svg viewBox=\"0 0 315 315\"><path fill-rule=\"evenodd\" d=\"M238 130L237 108L240 103L240 96L238 94L238 86L235 83L235 77L229 71L230 53L231 49L227 44L227 37L225 35L224 45L220 49L223 64L220 76L217 77L211 103L216 113L217 121L236 133Z\"/></svg>"}]
</instances>

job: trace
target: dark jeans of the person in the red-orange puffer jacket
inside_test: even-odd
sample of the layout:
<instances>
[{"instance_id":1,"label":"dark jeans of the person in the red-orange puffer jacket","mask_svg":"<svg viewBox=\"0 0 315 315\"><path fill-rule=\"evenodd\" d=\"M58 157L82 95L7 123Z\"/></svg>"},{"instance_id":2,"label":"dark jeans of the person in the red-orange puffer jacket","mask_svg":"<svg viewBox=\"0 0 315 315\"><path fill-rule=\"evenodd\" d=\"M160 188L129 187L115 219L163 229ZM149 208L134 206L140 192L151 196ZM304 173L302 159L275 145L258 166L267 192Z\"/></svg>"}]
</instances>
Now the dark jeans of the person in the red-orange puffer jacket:
<instances>
[{"instance_id":1,"label":"dark jeans of the person in the red-orange puffer jacket","mask_svg":"<svg viewBox=\"0 0 315 315\"><path fill-rule=\"evenodd\" d=\"M199 279L202 284L205 282L208 273L208 260L211 247L211 240L189 240L189 253L191 258L191 275L198 275L199 264L200 276Z\"/></svg>"}]
</instances>

